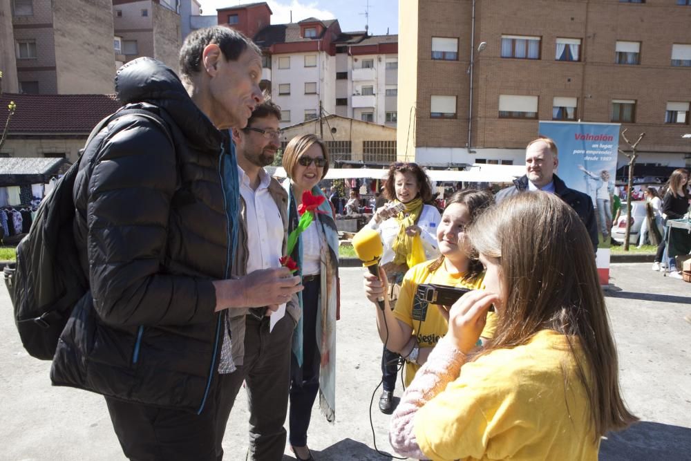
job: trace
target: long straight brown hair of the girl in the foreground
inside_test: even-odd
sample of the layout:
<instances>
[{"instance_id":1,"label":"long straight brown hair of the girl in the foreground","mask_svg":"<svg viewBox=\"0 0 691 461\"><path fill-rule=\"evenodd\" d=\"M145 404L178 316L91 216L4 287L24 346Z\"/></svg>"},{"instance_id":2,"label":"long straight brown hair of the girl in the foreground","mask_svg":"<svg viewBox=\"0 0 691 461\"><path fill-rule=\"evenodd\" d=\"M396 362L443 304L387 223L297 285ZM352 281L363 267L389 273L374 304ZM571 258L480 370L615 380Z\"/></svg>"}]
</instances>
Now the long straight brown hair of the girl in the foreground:
<instances>
[{"instance_id":1,"label":"long straight brown hair of the girl in the foreground","mask_svg":"<svg viewBox=\"0 0 691 461\"><path fill-rule=\"evenodd\" d=\"M473 359L555 330L569 342L596 437L636 421L621 399L593 247L576 211L553 194L519 194L480 215L468 234L478 252L499 259L504 299L494 339Z\"/></svg>"}]
</instances>

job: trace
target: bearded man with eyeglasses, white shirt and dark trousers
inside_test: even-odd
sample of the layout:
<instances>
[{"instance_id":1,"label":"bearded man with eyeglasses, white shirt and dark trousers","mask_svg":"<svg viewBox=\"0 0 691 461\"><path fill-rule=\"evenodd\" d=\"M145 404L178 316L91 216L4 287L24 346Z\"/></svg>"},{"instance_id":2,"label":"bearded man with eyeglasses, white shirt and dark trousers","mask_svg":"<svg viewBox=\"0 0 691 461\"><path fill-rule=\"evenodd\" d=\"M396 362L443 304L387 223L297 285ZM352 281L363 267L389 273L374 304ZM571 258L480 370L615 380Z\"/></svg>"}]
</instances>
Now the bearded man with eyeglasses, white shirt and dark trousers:
<instances>
[{"instance_id":1,"label":"bearded man with eyeglasses, white shirt and dark trousers","mask_svg":"<svg viewBox=\"0 0 691 461\"><path fill-rule=\"evenodd\" d=\"M231 130L241 196L234 276L280 267L278 258L285 254L288 197L264 169L274 162L281 145L280 120L281 108L266 101L256 106L245 128ZM282 307L272 315L282 315ZM300 317L297 295L287 300L285 314L273 330L269 313L267 308L252 308L230 314L232 356L237 369L227 383L227 391L235 399L240 386L247 383L248 460L280 460L285 449L283 423L290 385L290 344Z\"/></svg>"}]
</instances>

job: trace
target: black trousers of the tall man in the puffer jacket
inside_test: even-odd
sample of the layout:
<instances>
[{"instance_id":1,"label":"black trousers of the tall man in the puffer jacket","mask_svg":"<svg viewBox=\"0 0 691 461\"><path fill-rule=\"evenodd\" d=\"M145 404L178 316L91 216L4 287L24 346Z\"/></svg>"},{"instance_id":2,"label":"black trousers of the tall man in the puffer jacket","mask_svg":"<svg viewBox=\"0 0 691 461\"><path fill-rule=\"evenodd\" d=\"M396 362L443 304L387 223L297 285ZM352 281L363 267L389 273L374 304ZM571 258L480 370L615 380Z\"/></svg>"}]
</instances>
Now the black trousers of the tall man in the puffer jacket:
<instances>
[{"instance_id":1,"label":"black trousers of the tall man in the puffer jacket","mask_svg":"<svg viewBox=\"0 0 691 461\"><path fill-rule=\"evenodd\" d=\"M137 461L223 460L220 444L235 399L225 391L228 377L214 375L200 415L105 397L124 455Z\"/></svg>"}]
</instances>

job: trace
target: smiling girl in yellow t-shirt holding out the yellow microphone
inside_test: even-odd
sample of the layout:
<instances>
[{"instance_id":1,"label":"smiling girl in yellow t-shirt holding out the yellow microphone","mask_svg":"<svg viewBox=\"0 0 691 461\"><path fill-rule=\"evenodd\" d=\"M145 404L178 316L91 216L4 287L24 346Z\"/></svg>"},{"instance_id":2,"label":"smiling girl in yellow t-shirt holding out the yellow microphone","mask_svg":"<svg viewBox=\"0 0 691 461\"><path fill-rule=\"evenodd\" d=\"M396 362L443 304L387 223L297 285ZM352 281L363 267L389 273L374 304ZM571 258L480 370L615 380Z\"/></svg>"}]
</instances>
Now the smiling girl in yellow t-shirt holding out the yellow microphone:
<instances>
[{"instance_id":1,"label":"smiling girl in yellow t-shirt holding out the yellow microphone","mask_svg":"<svg viewBox=\"0 0 691 461\"><path fill-rule=\"evenodd\" d=\"M401 292L394 310L377 309L377 328L386 348L398 352L406 359L406 386L417 369L425 363L432 348L447 328L446 319L435 305L415 297L420 283L460 286L473 290L482 285L482 264L473 256L472 247L465 238L466 227L493 203L491 194L467 189L458 191L448 200L437 227L437 241L442 256L413 266L406 272ZM365 291L368 299L386 297L386 276L382 283L372 274L365 274ZM488 323L492 323L489 321ZM388 329L388 331L387 331ZM491 336L491 327L483 336ZM384 397L382 397L384 398Z\"/></svg>"}]
</instances>

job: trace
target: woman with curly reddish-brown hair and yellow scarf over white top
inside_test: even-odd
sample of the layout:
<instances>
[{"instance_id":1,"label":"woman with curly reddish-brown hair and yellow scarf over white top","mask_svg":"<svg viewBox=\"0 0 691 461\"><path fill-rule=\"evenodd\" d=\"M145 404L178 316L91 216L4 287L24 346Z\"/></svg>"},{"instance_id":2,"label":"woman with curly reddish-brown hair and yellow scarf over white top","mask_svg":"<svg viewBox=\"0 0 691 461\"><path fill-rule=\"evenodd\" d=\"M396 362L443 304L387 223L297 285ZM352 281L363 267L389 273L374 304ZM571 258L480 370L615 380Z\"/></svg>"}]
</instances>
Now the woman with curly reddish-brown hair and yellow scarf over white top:
<instances>
[{"instance_id":1,"label":"woman with curly reddish-brown hair and yellow scarf over white top","mask_svg":"<svg viewBox=\"0 0 691 461\"><path fill-rule=\"evenodd\" d=\"M390 203L375 211L368 227L379 232L384 243L380 263L388 279L388 301L393 309L408 269L439 256L437 226L442 216L437 207L431 205L430 180L416 163L391 164L384 183L384 196L391 200ZM413 255L416 256L411 257ZM379 397L379 410L387 415L393 411L399 357L386 347L381 355L384 391Z\"/></svg>"}]
</instances>

